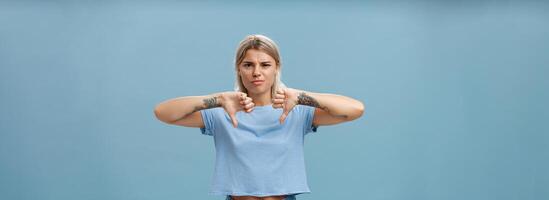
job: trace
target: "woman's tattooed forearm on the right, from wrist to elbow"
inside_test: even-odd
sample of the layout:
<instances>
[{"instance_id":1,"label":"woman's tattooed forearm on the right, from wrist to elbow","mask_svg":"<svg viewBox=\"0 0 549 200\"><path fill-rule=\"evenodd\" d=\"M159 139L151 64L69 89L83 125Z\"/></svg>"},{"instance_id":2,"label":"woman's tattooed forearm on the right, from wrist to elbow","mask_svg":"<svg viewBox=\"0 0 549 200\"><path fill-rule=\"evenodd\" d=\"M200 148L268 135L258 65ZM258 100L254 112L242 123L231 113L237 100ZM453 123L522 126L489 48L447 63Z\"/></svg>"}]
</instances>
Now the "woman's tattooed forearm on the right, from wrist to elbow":
<instances>
[{"instance_id":1,"label":"woman's tattooed forearm on the right, from wrist to elbow","mask_svg":"<svg viewBox=\"0 0 549 200\"><path fill-rule=\"evenodd\" d=\"M360 117L364 110L364 104L350 97L329 94L299 91L298 104L320 108L333 117L352 120Z\"/></svg>"}]
</instances>

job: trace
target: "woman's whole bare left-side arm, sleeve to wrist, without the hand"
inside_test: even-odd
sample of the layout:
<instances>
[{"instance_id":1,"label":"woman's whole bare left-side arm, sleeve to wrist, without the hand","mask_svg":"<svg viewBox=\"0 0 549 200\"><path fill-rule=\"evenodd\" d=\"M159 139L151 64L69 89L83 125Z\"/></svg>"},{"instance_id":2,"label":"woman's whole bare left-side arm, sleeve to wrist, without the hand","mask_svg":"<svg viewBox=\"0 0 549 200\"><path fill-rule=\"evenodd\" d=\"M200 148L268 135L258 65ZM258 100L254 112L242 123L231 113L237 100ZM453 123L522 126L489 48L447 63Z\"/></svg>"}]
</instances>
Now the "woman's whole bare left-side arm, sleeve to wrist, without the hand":
<instances>
[{"instance_id":1,"label":"woman's whole bare left-side arm, sleeve to wrist, without the hand","mask_svg":"<svg viewBox=\"0 0 549 200\"><path fill-rule=\"evenodd\" d=\"M187 96L166 100L154 109L156 118L168 124L187 127L204 127L200 112L222 106L221 93L205 96Z\"/></svg>"}]
</instances>

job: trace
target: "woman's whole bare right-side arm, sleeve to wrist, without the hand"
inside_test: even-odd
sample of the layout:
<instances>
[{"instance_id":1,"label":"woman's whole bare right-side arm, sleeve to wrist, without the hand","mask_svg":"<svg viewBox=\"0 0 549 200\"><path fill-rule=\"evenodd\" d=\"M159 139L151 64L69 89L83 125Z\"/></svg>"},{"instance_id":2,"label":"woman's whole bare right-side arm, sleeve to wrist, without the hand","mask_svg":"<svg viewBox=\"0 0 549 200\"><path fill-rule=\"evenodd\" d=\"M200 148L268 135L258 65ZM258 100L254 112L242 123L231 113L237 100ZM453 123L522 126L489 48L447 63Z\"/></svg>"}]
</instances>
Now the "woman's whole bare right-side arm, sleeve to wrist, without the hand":
<instances>
[{"instance_id":1,"label":"woman's whole bare right-side arm, sleeve to wrist, without the hand","mask_svg":"<svg viewBox=\"0 0 549 200\"><path fill-rule=\"evenodd\" d=\"M331 125L355 120L364 113L364 104L356 99L328 93L298 91L297 103L316 107L313 125Z\"/></svg>"}]
</instances>

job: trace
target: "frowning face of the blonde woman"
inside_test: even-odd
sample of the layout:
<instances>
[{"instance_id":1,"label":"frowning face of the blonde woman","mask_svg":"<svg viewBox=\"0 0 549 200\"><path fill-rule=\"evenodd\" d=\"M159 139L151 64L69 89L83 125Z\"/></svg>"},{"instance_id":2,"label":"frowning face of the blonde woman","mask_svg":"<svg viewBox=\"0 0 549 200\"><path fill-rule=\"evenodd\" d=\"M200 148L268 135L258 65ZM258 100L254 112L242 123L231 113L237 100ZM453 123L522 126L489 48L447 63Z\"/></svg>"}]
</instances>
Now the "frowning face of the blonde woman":
<instances>
[{"instance_id":1,"label":"frowning face of the blonde woman","mask_svg":"<svg viewBox=\"0 0 549 200\"><path fill-rule=\"evenodd\" d=\"M261 50L249 49L238 70L249 93L270 95L278 70L273 57Z\"/></svg>"}]
</instances>

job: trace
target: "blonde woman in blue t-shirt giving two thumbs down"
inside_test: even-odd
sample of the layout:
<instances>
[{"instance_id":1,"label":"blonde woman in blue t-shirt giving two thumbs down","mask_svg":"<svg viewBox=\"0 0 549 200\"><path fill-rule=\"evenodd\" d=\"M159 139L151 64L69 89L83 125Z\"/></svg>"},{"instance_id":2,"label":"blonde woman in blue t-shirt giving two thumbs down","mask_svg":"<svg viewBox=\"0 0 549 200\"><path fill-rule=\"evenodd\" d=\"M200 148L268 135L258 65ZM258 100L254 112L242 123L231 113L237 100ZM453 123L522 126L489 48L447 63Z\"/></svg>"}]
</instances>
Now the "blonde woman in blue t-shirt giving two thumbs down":
<instances>
[{"instance_id":1,"label":"blonde woman in blue t-shirt giving two thumbs down","mask_svg":"<svg viewBox=\"0 0 549 200\"><path fill-rule=\"evenodd\" d=\"M169 99L156 106L156 117L214 137L211 194L228 200L289 200L310 193L304 136L321 125L359 118L364 104L285 87L278 47L263 35L240 42L235 71L235 91Z\"/></svg>"}]
</instances>

